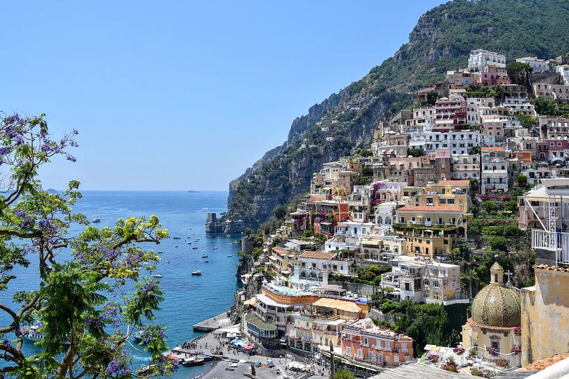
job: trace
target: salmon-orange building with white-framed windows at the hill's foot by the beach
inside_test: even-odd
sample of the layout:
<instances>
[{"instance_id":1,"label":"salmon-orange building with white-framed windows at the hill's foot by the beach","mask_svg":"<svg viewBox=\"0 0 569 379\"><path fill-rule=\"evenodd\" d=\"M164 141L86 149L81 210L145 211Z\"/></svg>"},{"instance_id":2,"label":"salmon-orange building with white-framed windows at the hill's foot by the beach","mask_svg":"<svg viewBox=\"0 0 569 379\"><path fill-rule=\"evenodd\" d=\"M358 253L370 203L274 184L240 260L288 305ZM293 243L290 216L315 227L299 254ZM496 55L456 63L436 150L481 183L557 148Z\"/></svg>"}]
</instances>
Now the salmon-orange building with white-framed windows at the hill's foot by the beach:
<instances>
[{"instance_id":1,"label":"salmon-orange building with white-framed windows at the hill's foot by the beach","mask_svg":"<svg viewBox=\"0 0 569 379\"><path fill-rule=\"evenodd\" d=\"M382 366L398 366L413 357L413 339L380 328L369 318L345 323L341 334L342 355Z\"/></svg>"}]
</instances>

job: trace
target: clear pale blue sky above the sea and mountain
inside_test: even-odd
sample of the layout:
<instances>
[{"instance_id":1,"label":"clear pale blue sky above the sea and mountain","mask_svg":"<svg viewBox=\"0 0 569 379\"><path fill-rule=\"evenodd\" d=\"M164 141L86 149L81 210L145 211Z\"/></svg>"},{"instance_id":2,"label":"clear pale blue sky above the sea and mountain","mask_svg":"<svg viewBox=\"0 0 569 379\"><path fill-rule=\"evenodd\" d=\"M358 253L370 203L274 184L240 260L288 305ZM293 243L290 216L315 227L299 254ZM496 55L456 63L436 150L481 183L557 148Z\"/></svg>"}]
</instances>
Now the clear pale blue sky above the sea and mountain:
<instances>
[{"instance_id":1,"label":"clear pale blue sky above the sea and mountain","mask_svg":"<svg viewBox=\"0 0 569 379\"><path fill-rule=\"evenodd\" d=\"M45 188L226 190L443 1L5 1L0 110L79 130Z\"/></svg>"}]
</instances>

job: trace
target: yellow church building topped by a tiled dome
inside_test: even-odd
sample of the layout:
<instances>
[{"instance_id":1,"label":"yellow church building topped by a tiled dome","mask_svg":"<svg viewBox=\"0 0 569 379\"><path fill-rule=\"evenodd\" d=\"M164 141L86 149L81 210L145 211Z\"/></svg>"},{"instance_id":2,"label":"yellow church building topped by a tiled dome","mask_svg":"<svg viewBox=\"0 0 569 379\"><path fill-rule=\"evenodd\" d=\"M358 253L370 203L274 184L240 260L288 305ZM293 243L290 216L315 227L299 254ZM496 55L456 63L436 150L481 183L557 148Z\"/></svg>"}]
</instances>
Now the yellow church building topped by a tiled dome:
<instances>
[{"instance_id":1,"label":"yellow church building topped by a tiled dome","mask_svg":"<svg viewBox=\"0 0 569 379\"><path fill-rule=\"evenodd\" d=\"M521 344L516 335L520 327L520 298L504 286L504 268L498 262L490 268L490 278L490 284L472 300L471 318L462 325L462 347L476 349L474 355L501 359L510 367L519 366L520 355L513 350Z\"/></svg>"}]
</instances>

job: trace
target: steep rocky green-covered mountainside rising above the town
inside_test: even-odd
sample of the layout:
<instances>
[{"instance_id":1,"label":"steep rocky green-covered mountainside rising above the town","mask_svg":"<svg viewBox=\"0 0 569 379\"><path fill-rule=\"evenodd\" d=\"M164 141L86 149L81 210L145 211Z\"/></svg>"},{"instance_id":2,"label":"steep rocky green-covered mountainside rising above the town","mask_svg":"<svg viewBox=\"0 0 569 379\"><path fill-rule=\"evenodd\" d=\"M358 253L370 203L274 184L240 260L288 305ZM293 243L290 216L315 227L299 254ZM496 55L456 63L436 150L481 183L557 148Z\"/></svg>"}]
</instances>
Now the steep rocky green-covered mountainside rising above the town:
<instances>
[{"instance_id":1,"label":"steep rocky green-covered mountainside rising above the town","mask_svg":"<svg viewBox=\"0 0 569 379\"><path fill-rule=\"evenodd\" d=\"M568 16L566 0L457 0L429 10L392 58L296 118L283 145L231 182L228 216L258 227L308 191L322 163L370 143L382 120L412 104L409 92L465 67L472 49L500 51L508 60L566 54Z\"/></svg>"}]
</instances>

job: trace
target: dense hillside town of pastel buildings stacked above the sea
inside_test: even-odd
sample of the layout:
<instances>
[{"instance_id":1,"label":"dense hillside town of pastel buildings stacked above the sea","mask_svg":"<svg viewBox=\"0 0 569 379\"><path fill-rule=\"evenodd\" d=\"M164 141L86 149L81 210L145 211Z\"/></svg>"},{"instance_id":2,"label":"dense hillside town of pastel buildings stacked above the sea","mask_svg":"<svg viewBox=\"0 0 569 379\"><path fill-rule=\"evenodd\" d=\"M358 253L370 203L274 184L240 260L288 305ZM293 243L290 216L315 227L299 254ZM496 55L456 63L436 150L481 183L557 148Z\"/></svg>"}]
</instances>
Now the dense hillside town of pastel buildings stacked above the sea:
<instances>
[{"instance_id":1,"label":"dense hillside town of pastel buildings stacked above the sea","mask_svg":"<svg viewBox=\"0 0 569 379\"><path fill-rule=\"evenodd\" d=\"M568 101L569 56L482 49L417 90L246 232L244 338L374 378L529 376L568 353Z\"/></svg>"}]
</instances>

